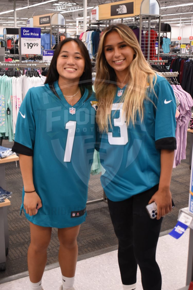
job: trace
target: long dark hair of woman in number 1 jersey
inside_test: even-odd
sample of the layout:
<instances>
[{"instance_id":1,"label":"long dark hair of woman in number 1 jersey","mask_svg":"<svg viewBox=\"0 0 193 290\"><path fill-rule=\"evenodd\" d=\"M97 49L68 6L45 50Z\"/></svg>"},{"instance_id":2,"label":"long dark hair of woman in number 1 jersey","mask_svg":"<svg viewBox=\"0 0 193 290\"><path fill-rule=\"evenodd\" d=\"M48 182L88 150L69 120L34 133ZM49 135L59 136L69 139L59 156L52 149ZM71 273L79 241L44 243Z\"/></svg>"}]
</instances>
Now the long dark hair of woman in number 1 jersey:
<instances>
[{"instance_id":1,"label":"long dark hair of woman in number 1 jersey","mask_svg":"<svg viewBox=\"0 0 193 290\"><path fill-rule=\"evenodd\" d=\"M78 44L80 51L82 53L82 56L84 58L84 61L85 61L84 72L80 77L79 87L80 87L80 89L81 89L81 87L86 87L89 91L91 91L92 90L91 60L90 60L89 52L88 52L86 46L78 38L66 38L58 44L58 46L54 52L54 55L52 57L52 61L50 63L50 66L49 66L49 70L48 70L45 84L51 85L51 84L53 84L54 81L58 80L59 74L58 74L58 71L56 68L57 58L58 58L58 55L60 53L62 46L69 41L75 41Z\"/></svg>"}]
</instances>

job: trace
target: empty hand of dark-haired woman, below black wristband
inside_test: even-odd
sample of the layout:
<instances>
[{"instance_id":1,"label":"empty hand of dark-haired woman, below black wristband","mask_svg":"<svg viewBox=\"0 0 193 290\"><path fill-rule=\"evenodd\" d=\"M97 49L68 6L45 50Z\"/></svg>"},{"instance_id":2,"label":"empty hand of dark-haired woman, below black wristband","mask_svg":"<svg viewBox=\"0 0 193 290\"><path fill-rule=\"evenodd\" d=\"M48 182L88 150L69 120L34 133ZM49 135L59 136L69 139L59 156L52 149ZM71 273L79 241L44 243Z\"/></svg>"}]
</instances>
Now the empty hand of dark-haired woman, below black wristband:
<instances>
[{"instance_id":1,"label":"empty hand of dark-haired woman, below black wristband","mask_svg":"<svg viewBox=\"0 0 193 290\"><path fill-rule=\"evenodd\" d=\"M36 215L38 209L42 207L41 198L36 192L33 193L25 192L23 205L26 213L28 213L29 215Z\"/></svg>"}]
</instances>

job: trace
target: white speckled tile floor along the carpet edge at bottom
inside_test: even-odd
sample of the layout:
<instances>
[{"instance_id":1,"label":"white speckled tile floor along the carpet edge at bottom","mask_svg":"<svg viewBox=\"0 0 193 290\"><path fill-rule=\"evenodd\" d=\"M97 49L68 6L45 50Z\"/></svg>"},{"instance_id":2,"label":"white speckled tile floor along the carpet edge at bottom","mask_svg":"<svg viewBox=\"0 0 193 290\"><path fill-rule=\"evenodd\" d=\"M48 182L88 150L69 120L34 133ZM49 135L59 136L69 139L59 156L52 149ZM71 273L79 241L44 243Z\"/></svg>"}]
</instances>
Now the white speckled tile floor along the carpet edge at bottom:
<instances>
[{"instance_id":1,"label":"white speckled tile floor along the carpet edge at bottom","mask_svg":"<svg viewBox=\"0 0 193 290\"><path fill-rule=\"evenodd\" d=\"M175 240L169 235L159 238L157 262L162 273L163 290L176 290L185 286L188 240L189 229L179 240ZM25 277L0 284L0 289L29 290L28 279ZM59 289L61 284L60 268L45 271L42 281L44 290ZM74 287L76 290L122 290L117 251L78 261ZM136 290L142 290L139 269Z\"/></svg>"}]
</instances>

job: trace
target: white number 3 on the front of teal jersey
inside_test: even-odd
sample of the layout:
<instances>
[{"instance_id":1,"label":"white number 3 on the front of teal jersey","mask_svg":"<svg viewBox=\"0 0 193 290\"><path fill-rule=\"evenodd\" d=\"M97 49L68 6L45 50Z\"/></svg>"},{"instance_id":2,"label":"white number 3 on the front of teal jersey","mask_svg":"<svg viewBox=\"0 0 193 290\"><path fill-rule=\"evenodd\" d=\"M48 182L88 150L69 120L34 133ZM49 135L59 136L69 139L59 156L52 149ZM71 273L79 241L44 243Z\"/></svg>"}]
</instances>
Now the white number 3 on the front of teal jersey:
<instances>
[{"instance_id":1,"label":"white number 3 on the front of teal jersey","mask_svg":"<svg viewBox=\"0 0 193 290\"><path fill-rule=\"evenodd\" d=\"M119 118L113 119L114 126L120 128L120 137L113 137L112 132L108 132L108 141L111 145L125 145L128 142L128 132L127 132L127 124L126 124L126 117L125 113L120 106L123 106L123 103L116 103L112 106L113 110L119 110L120 115Z\"/></svg>"}]
</instances>

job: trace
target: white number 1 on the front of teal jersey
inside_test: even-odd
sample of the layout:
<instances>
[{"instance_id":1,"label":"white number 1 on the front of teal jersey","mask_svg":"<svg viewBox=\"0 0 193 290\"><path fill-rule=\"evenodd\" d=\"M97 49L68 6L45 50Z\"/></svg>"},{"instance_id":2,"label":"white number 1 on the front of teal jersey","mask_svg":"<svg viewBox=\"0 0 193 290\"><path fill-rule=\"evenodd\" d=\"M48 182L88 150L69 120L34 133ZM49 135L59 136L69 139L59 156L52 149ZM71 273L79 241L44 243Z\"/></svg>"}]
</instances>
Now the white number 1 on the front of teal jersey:
<instances>
[{"instance_id":1,"label":"white number 1 on the front of teal jersey","mask_svg":"<svg viewBox=\"0 0 193 290\"><path fill-rule=\"evenodd\" d=\"M65 128L68 130L68 135L67 135L66 149L65 149L65 154L64 154L64 162L70 162L71 155L72 155L72 147L73 147L73 142L74 142L74 135L76 132L76 122L75 121L67 122Z\"/></svg>"}]
</instances>

